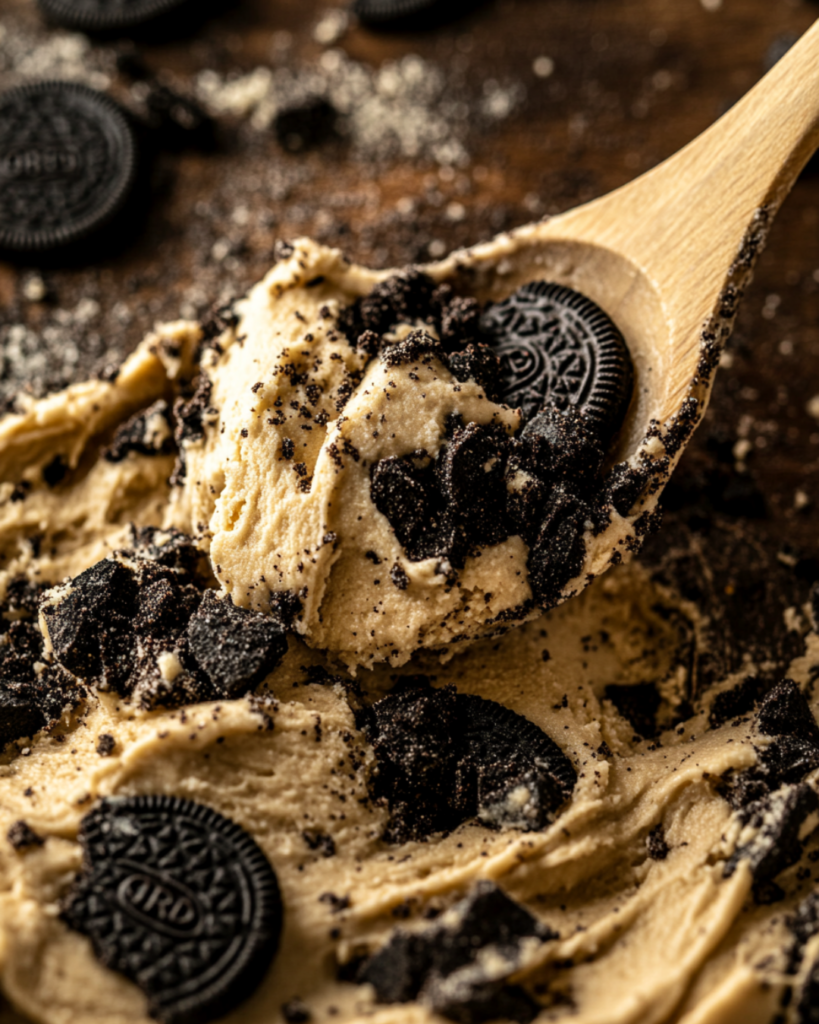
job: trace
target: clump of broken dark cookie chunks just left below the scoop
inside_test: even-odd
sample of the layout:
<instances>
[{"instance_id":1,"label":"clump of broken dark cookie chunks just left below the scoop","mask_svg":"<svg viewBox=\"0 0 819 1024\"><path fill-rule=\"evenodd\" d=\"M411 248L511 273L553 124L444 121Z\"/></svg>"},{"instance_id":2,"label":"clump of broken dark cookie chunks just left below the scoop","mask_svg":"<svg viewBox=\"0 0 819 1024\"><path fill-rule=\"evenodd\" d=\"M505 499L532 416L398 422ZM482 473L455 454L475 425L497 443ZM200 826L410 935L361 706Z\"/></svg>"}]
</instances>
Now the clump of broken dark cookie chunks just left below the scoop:
<instances>
[{"instance_id":1,"label":"clump of broken dark cookie chunks just left below the scoop","mask_svg":"<svg viewBox=\"0 0 819 1024\"><path fill-rule=\"evenodd\" d=\"M281 595L264 615L219 600L179 531L145 530L134 547L49 591L42 604L50 655L74 677L144 708L236 696L287 650Z\"/></svg>"}]
</instances>

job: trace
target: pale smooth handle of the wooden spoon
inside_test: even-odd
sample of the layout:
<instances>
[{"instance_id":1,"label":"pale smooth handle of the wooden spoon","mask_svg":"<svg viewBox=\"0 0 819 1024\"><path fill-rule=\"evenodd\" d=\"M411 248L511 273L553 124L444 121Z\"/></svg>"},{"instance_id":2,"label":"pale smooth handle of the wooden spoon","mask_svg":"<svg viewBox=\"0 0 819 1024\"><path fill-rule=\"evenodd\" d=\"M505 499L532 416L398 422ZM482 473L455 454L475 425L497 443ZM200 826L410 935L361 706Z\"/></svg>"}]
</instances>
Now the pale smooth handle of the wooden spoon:
<instances>
[{"instance_id":1,"label":"pale smooth handle of the wooden spoon","mask_svg":"<svg viewBox=\"0 0 819 1024\"><path fill-rule=\"evenodd\" d=\"M719 121L664 163L549 222L620 253L654 283L678 334L697 339L732 268L819 144L819 20ZM744 246L744 253L742 252ZM741 276L741 275L740 275ZM738 287L743 282L738 279Z\"/></svg>"}]
</instances>

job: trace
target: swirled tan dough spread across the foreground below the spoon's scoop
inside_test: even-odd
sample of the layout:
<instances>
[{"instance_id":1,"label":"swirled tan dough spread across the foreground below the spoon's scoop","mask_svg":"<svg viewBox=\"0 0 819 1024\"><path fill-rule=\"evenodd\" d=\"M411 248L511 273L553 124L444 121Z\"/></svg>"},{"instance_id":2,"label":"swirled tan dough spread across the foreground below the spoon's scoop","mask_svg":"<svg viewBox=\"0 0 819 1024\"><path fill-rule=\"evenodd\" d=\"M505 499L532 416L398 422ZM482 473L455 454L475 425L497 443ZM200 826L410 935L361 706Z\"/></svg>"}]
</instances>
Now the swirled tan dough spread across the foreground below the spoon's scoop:
<instances>
[{"instance_id":1,"label":"swirled tan dough spread across the foreground below the spoon's scoop","mask_svg":"<svg viewBox=\"0 0 819 1024\"><path fill-rule=\"evenodd\" d=\"M695 632L704 625L691 614L640 566L620 566L577 600L443 668L418 657L397 677L386 668L367 674L364 687L292 638L251 697L145 711L90 692L2 758L5 997L37 1022L147 1024L142 993L95 959L59 906L80 869L78 828L94 802L163 794L241 824L278 876L281 951L231 1020L288 1020L302 1009L312 1020L422 1022L447 1006L455 1019L483 1019L470 1016L463 991L474 995L474 977L465 980L463 968L458 984L451 975L448 988L427 985L410 1002L378 1002L377 987L342 979L354 979L356 964L397 934L457 931L459 901L477 898L487 882L527 908L537 931L507 943L500 958L487 947L469 970L478 987L488 978L505 992L522 989L537 1020L773 1019L786 992L800 997L814 956L819 840L816 798L806 803L804 793L814 792L819 765L816 703L802 709L809 718L782 709L799 712L819 639L806 635L789 688L756 714L723 720L719 694L735 693L736 677L686 707L678 616ZM419 673L436 689L498 701L557 741L577 780L552 824L499 829L472 819L449 834L385 839L391 809L373 800L378 759L354 710L396 683L418 685ZM646 738L611 697L628 709L623 692L657 682L659 725Z\"/></svg>"}]
</instances>

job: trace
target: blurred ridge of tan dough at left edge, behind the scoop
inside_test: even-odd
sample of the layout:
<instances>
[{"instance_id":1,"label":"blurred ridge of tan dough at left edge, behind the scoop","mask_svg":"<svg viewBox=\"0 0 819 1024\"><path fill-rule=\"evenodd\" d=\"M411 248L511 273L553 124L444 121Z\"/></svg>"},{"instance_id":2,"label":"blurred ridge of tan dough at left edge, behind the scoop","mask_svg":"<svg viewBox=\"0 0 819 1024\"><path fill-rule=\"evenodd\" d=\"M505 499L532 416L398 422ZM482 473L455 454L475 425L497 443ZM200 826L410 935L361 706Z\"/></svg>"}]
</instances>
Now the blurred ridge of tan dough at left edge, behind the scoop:
<instances>
[{"instance_id":1,"label":"blurred ridge of tan dough at left edge, behind the scoop","mask_svg":"<svg viewBox=\"0 0 819 1024\"><path fill-rule=\"evenodd\" d=\"M189 376L198 324L163 325L114 380L75 384L47 398L21 394L0 419L0 591L16 575L57 583L122 547L130 524L168 515L168 453L162 415L145 424L147 443L119 443L133 418L174 400ZM111 456L114 456L112 459Z\"/></svg>"}]
</instances>

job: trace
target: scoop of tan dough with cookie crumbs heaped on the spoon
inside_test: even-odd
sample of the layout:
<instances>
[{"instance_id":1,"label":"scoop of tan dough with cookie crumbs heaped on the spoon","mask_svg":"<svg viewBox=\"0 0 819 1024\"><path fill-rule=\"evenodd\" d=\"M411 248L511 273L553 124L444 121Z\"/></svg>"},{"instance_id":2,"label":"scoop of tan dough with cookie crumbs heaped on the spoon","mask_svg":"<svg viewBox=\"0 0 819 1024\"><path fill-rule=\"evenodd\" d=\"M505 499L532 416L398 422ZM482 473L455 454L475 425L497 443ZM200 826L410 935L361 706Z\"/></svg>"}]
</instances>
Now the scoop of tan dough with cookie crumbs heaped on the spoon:
<instances>
[{"instance_id":1,"label":"scoop of tan dough with cookie crumbs heaped on the spoon","mask_svg":"<svg viewBox=\"0 0 819 1024\"><path fill-rule=\"evenodd\" d=\"M308 241L234 304L202 357L176 521L238 605L297 595L311 646L398 666L537 614L633 545L646 476L600 478L604 442L571 410L521 432L478 312Z\"/></svg>"}]
</instances>

